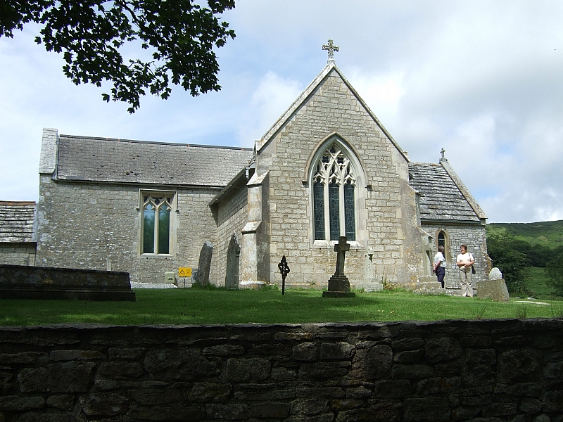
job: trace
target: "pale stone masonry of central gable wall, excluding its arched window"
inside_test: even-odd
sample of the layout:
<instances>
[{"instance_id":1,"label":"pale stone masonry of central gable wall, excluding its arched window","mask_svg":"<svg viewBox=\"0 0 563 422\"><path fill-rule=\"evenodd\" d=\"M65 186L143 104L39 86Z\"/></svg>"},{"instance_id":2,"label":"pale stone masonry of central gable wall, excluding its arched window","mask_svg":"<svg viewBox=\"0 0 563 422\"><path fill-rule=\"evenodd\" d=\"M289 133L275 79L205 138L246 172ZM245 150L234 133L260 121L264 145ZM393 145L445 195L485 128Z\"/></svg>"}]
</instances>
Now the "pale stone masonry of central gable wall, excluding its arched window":
<instances>
[{"instance_id":1,"label":"pale stone masonry of central gable wall, excluding its arched window","mask_svg":"<svg viewBox=\"0 0 563 422\"><path fill-rule=\"evenodd\" d=\"M326 286L334 274L333 245L313 241L311 188L305 174L308 160L333 134L358 155L371 185L369 191L357 187L365 205L356 210L358 243L346 255L346 274L351 283L365 279L366 248L371 248L375 274L403 282L399 275L407 264L400 181L407 173L398 160L404 158L393 156L396 147L334 72L258 153L258 174L270 170L271 279L281 255L291 267L290 283Z\"/></svg>"}]
</instances>

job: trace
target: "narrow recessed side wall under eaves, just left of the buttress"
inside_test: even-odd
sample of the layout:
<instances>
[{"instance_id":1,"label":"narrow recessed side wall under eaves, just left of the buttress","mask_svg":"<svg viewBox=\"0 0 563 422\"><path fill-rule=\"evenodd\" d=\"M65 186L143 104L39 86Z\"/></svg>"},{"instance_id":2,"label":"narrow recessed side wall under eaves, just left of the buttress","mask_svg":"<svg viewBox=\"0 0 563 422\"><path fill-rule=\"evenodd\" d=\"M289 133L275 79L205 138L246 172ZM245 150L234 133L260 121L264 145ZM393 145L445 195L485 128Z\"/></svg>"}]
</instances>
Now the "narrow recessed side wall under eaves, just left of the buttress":
<instances>
[{"instance_id":1,"label":"narrow recessed side wall under eaves, just left of the buttress","mask_svg":"<svg viewBox=\"0 0 563 422\"><path fill-rule=\"evenodd\" d=\"M217 205L217 286L224 286L227 275L227 249L233 234L241 243L241 231L246 224L246 178L241 178L237 184L227 191ZM215 246L215 245L214 245Z\"/></svg>"}]
</instances>

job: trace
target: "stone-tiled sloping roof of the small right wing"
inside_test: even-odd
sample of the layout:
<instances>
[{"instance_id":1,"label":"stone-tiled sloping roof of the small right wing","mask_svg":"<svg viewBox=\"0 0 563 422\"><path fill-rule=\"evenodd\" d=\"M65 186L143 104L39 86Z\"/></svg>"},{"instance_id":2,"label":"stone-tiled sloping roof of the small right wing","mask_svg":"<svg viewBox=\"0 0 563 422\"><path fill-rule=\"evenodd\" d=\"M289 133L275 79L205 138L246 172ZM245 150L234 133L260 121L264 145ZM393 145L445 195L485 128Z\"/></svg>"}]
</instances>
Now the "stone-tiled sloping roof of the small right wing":
<instances>
[{"instance_id":1,"label":"stone-tiled sloping roof of the small right wing","mask_svg":"<svg viewBox=\"0 0 563 422\"><path fill-rule=\"evenodd\" d=\"M409 162L409 174L410 186L422 194L420 198L422 221L481 222L479 215L460 190L460 186L457 186L442 165ZM464 189L464 186L462 188Z\"/></svg>"}]
</instances>

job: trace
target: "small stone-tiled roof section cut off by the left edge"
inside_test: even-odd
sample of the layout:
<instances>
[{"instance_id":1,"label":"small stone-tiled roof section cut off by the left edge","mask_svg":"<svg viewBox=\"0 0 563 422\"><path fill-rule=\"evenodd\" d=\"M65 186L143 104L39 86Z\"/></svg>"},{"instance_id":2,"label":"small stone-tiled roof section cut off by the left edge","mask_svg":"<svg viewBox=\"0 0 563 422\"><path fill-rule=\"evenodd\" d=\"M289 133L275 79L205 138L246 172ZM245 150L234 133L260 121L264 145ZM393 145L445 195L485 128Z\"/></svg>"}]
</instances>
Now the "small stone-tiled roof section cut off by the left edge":
<instances>
[{"instance_id":1,"label":"small stone-tiled roof section cut off by the left edge","mask_svg":"<svg viewBox=\"0 0 563 422\"><path fill-rule=\"evenodd\" d=\"M0 243L32 241L35 203L0 200Z\"/></svg>"}]
</instances>

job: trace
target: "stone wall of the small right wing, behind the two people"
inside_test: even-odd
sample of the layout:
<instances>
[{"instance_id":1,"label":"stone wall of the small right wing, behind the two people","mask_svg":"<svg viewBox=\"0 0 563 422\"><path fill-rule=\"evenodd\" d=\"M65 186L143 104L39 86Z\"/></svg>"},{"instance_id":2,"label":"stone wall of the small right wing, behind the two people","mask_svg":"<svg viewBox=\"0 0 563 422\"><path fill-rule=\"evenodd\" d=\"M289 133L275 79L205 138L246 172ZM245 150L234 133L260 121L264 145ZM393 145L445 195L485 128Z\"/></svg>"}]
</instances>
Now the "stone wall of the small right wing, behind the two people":
<instances>
[{"instance_id":1,"label":"stone wall of the small right wing, behind the two people","mask_svg":"<svg viewBox=\"0 0 563 422\"><path fill-rule=\"evenodd\" d=\"M460 276L455 261L460 254L460 245L467 245L467 249L475 259L475 274L473 274L474 286L477 281L488 280L487 239L484 225L441 225L424 224L422 228L434 238L434 250L432 257L438 251L438 233L443 230L445 233L446 250L445 260L448 269L445 271L445 286L460 287Z\"/></svg>"}]
</instances>

